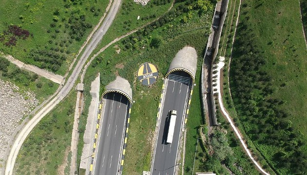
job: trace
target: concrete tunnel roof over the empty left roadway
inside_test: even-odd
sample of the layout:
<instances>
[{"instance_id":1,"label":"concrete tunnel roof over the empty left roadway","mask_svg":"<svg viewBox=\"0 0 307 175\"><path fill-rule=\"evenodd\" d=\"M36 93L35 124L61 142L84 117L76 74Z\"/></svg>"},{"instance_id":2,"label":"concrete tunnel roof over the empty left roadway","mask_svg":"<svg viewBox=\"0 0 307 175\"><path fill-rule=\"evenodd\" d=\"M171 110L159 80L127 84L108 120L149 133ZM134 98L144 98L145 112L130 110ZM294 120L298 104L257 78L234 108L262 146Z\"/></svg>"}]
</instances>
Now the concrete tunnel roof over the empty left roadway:
<instances>
[{"instance_id":1,"label":"concrete tunnel roof over the empty left roadway","mask_svg":"<svg viewBox=\"0 0 307 175\"><path fill-rule=\"evenodd\" d=\"M109 83L105 88L106 91L102 93L102 97L106 93L117 92L127 97L129 102L132 104L132 89L128 80L117 76L116 79L113 82Z\"/></svg>"}]
</instances>

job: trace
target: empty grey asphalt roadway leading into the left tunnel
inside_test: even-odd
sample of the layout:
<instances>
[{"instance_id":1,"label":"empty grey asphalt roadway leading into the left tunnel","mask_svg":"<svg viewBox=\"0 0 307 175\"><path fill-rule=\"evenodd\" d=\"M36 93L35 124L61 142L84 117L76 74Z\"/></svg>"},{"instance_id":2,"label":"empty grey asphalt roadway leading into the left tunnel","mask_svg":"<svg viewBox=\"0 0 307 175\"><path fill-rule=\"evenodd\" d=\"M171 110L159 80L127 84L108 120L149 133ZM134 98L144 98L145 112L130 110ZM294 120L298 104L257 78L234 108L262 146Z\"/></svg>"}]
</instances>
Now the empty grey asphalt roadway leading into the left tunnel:
<instances>
[{"instance_id":1,"label":"empty grey asphalt roadway leading into the left tunnel","mask_svg":"<svg viewBox=\"0 0 307 175\"><path fill-rule=\"evenodd\" d=\"M128 99L116 92L106 94L106 105L100 124L94 175L116 175L129 112Z\"/></svg>"}]
</instances>

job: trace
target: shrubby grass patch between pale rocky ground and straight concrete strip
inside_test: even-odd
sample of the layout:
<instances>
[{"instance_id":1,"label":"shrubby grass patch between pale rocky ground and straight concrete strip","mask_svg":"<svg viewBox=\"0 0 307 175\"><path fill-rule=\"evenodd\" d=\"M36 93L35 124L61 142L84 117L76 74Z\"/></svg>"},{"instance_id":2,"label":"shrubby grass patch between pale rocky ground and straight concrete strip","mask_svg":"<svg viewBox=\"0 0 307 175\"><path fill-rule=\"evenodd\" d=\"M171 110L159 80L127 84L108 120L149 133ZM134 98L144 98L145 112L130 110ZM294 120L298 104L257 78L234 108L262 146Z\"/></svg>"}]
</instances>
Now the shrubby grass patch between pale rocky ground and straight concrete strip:
<instances>
[{"instance_id":1,"label":"shrubby grass patch between pale rocky ground and straight concrete strip","mask_svg":"<svg viewBox=\"0 0 307 175\"><path fill-rule=\"evenodd\" d=\"M12 63L9 63L7 70L8 70L7 74L14 76L9 76L9 75L3 76L4 72L0 70L0 79L3 81L9 81L14 83L16 86L20 88L20 92L28 90L33 91L39 103L46 100L50 95L52 95L58 89L58 84L44 77L37 76L35 75L35 73L32 73L30 71L20 70L17 66L15 66ZM35 76L37 76L37 78L31 80L32 77Z\"/></svg>"}]
</instances>

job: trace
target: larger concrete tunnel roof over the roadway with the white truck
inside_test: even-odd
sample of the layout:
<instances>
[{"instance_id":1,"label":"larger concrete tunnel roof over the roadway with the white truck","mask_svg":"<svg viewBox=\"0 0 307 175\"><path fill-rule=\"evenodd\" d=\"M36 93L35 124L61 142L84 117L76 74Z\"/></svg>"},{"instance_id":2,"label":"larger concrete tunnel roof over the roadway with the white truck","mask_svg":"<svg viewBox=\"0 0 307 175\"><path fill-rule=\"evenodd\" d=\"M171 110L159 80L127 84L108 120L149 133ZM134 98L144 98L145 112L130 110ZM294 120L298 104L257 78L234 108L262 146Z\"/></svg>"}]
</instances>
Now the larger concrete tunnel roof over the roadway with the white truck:
<instances>
[{"instance_id":1,"label":"larger concrete tunnel roof over the roadway with the white truck","mask_svg":"<svg viewBox=\"0 0 307 175\"><path fill-rule=\"evenodd\" d=\"M176 53L173 61L169 67L168 72L165 77L174 71L185 71L187 72L195 83L195 74L197 68L197 53L196 50L190 46L182 48L178 53Z\"/></svg>"}]
</instances>

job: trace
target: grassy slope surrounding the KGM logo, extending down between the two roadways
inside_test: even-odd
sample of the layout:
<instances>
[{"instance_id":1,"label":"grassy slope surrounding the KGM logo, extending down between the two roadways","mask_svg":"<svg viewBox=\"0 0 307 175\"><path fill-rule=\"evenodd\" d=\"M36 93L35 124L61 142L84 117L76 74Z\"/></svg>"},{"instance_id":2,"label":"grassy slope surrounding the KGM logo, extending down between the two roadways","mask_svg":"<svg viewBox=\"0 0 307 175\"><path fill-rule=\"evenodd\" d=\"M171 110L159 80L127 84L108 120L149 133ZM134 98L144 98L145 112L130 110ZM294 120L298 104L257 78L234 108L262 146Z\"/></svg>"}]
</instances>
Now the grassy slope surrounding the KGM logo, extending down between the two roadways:
<instances>
[{"instance_id":1,"label":"grassy slope surrounding the KGM logo, extending down between the two roadways","mask_svg":"<svg viewBox=\"0 0 307 175\"><path fill-rule=\"evenodd\" d=\"M181 13L184 7L183 4L184 2L178 2L174 5L174 8L181 6L177 8L179 15L169 14L173 20L164 21L164 23L158 22L156 25L159 25L159 27L149 26L150 29L144 29L110 46L96 57L86 72L84 80L85 111L88 110L90 102L88 96L90 83L94 80L97 72L100 72L101 76L101 91L115 79L116 75L126 78L132 85L135 104L132 107L125 155L125 175L139 175L143 170L150 170L151 145L154 140L153 131L162 87L161 77L164 77L174 55L186 45L196 49L199 59L202 59L204 54L203 50L206 45L206 39L204 38L208 37L212 11L203 13L199 17L198 13L196 13L197 10L190 10L192 16L186 22L181 22L183 16L187 15L186 13ZM168 18L168 16L165 18ZM173 27L175 25L177 25L176 28ZM148 33L145 33L145 30ZM152 37L160 39L159 44L155 47L151 47ZM130 43L129 41L131 40L133 42L129 47L127 43ZM118 48L121 50L120 53L116 52ZM159 70L159 78L150 88L140 85L135 79L138 66L144 62L155 64ZM80 138L82 138L82 128L85 127L85 118L83 117L80 118L80 126ZM83 143L80 140L78 150L81 150L82 147ZM81 152L78 152L78 159L80 155Z\"/></svg>"}]
</instances>

